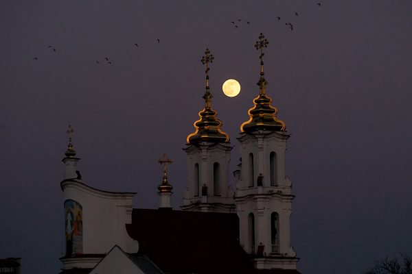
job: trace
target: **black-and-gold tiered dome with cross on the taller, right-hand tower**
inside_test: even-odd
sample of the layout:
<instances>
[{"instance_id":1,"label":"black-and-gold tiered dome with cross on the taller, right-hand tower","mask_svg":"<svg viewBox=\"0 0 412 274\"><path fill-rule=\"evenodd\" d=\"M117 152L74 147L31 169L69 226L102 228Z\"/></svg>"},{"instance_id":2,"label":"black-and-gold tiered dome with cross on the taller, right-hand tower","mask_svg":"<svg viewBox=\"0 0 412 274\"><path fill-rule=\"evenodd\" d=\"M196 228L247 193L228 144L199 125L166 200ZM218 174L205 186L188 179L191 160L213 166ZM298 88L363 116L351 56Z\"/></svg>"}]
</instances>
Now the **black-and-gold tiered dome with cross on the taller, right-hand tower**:
<instances>
[{"instance_id":1,"label":"black-and-gold tiered dome with cross on the taller, right-hand tower","mask_svg":"<svg viewBox=\"0 0 412 274\"><path fill-rule=\"evenodd\" d=\"M256 41L255 48L260 49L260 79L258 86L260 94L253 99L254 106L249 109L249 121L240 125L241 132L254 132L255 130L271 130L271 131L285 131L286 125L284 121L277 119L277 109L271 105L272 99L266 95L266 86L268 82L264 79L263 71L263 49L268 47L268 40L260 34L259 40Z\"/></svg>"}]
</instances>

